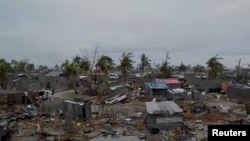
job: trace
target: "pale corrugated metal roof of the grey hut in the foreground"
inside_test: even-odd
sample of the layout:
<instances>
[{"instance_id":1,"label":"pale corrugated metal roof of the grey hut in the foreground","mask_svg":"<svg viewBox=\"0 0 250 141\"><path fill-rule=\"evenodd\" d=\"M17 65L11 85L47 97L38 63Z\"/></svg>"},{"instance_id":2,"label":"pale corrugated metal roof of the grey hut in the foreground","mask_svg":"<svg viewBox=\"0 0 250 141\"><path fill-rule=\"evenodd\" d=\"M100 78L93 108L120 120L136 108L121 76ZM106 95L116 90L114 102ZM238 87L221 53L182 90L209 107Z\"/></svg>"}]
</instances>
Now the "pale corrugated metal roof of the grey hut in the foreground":
<instances>
[{"instance_id":1,"label":"pale corrugated metal roof of the grey hut in the foreground","mask_svg":"<svg viewBox=\"0 0 250 141\"><path fill-rule=\"evenodd\" d=\"M146 110L149 114L169 112L170 115L182 112L182 109L174 101L146 102Z\"/></svg>"}]
</instances>

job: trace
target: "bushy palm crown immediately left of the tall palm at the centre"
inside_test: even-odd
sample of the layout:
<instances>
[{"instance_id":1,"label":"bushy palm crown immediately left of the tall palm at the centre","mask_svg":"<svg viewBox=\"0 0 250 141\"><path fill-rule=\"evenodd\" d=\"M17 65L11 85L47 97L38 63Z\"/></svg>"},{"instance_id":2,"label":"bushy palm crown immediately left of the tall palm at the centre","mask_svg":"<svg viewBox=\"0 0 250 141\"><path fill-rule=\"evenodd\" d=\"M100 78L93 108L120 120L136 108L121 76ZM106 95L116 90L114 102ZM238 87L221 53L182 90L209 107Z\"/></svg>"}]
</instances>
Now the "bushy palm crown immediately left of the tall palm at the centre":
<instances>
[{"instance_id":1,"label":"bushy palm crown immediately left of the tall palm at the centre","mask_svg":"<svg viewBox=\"0 0 250 141\"><path fill-rule=\"evenodd\" d=\"M114 67L114 65L115 64L113 59L105 55L102 55L96 63L96 67L99 68L101 72L104 72L105 75L108 74L108 72Z\"/></svg>"}]
</instances>

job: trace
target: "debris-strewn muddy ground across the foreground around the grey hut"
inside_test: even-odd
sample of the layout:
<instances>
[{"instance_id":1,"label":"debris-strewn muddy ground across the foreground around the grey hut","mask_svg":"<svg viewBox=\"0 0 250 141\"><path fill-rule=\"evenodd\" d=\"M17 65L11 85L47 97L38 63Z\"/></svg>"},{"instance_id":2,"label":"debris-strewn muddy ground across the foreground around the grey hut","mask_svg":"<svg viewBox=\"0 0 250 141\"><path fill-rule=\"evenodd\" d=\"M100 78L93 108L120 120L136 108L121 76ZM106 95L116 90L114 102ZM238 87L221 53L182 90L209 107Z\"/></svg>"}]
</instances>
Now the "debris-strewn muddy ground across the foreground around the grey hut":
<instances>
[{"instance_id":1,"label":"debris-strewn muddy ground across the foreground around the grey hut","mask_svg":"<svg viewBox=\"0 0 250 141\"><path fill-rule=\"evenodd\" d=\"M206 101L174 101L182 109L183 126L172 130L148 129L147 100L142 98L144 95L133 94L130 92L126 95L126 101L119 100L122 95L110 97L111 103L100 103L97 96L86 98L90 104L86 106L91 107L89 115L81 113L88 112L81 107L86 102L75 102L80 107L74 108L63 104L63 100L55 96L41 101L40 105L15 104L16 101L12 100L11 105L4 104L0 109L1 141L98 141L124 138L194 141L207 136L208 124L249 124L245 120L244 104L229 101L224 95L206 94ZM18 99L22 101L20 97ZM69 111L64 111L65 107ZM77 111L79 108L83 111ZM81 113L81 118L86 120L75 120L74 112ZM169 118L160 117L159 122L165 122L165 119Z\"/></svg>"}]
</instances>

